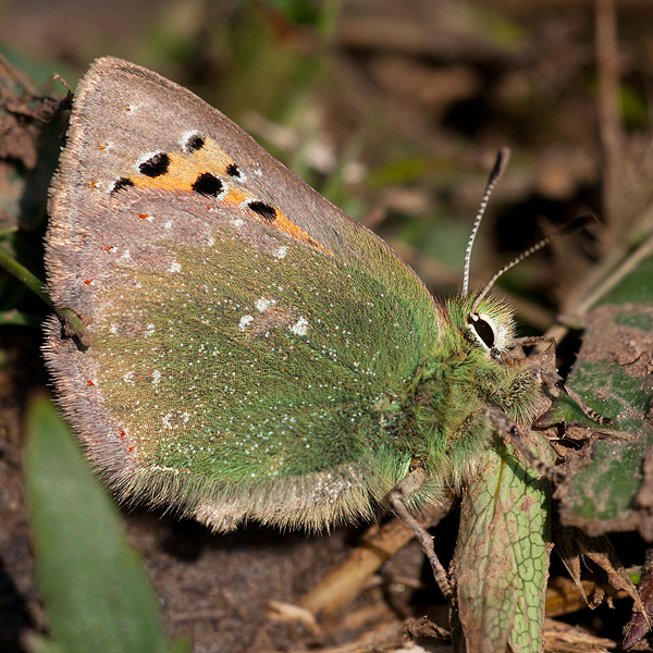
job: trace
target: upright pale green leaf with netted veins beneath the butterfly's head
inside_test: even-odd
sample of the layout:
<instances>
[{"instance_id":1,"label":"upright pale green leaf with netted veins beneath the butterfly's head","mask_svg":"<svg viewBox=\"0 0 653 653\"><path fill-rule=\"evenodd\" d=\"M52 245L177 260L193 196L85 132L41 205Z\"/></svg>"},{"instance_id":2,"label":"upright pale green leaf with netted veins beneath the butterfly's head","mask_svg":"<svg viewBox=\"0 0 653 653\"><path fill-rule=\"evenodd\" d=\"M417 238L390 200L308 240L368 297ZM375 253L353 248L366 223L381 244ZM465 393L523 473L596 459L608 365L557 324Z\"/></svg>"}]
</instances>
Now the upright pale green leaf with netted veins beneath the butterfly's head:
<instances>
[{"instance_id":1,"label":"upright pale green leaf with netted veins beneath the butterfly's head","mask_svg":"<svg viewBox=\"0 0 653 653\"><path fill-rule=\"evenodd\" d=\"M552 461L542 435L535 451L542 460ZM454 558L458 599L454 624L460 626L454 628L455 650L543 649L550 498L549 482L538 479L497 440L461 504Z\"/></svg>"}]
</instances>

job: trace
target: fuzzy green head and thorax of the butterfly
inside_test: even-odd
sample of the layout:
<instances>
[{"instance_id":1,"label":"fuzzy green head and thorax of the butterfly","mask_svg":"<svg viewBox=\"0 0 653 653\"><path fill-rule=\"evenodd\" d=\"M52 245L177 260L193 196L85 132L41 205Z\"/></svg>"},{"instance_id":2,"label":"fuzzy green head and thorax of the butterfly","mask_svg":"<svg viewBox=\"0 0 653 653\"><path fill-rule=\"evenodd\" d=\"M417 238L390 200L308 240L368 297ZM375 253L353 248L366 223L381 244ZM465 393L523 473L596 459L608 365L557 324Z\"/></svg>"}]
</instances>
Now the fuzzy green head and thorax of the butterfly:
<instances>
[{"instance_id":1,"label":"fuzzy green head and thorax of the butterfly","mask_svg":"<svg viewBox=\"0 0 653 653\"><path fill-rule=\"evenodd\" d=\"M491 325L494 342L483 342L469 323L473 297L447 301L440 340L424 356L402 396L402 431L411 455L430 476L458 485L486 448L492 406L523 422L541 395L538 369L512 354L514 320L508 307L488 298L476 310ZM409 444L408 444L409 443Z\"/></svg>"}]
</instances>

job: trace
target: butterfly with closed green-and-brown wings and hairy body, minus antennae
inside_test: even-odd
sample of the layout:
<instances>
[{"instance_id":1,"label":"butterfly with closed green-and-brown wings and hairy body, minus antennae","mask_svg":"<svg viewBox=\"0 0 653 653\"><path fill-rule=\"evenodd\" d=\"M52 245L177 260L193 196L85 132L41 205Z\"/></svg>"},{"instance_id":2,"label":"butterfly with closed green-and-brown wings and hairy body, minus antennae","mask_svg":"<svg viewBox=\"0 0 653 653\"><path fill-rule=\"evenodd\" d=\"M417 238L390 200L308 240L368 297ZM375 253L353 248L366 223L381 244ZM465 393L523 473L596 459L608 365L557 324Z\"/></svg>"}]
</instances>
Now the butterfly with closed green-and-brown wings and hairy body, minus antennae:
<instances>
[{"instance_id":1,"label":"butterfly with closed green-and-brown wings and hairy body, minus antennae","mask_svg":"<svg viewBox=\"0 0 653 653\"><path fill-rule=\"evenodd\" d=\"M81 82L50 196L60 404L123 498L215 530L369 518L414 469L409 505L529 422L539 370L512 311L434 299L380 238L222 113L135 64Z\"/></svg>"}]
</instances>

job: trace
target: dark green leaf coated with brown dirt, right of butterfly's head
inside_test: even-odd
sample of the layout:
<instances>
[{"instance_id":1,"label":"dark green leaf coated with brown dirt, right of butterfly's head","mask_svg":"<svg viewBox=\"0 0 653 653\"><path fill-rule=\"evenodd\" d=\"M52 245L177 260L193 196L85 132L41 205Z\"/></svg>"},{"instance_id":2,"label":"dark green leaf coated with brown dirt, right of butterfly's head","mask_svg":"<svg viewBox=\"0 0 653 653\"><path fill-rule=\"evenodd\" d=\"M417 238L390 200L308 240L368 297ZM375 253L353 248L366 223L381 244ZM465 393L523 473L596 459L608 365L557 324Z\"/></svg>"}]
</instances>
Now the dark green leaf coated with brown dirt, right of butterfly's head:
<instances>
[{"instance_id":1,"label":"dark green leaf coated with brown dirt, right of butterfly's head","mask_svg":"<svg viewBox=\"0 0 653 653\"><path fill-rule=\"evenodd\" d=\"M652 533L645 459L653 445L653 257L624 279L584 323L567 385L614 426L599 427L567 399L556 407L554 420L565 421L569 435L587 442L568 456L568 480L556 491L560 518L591 535L633 529Z\"/></svg>"}]
</instances>

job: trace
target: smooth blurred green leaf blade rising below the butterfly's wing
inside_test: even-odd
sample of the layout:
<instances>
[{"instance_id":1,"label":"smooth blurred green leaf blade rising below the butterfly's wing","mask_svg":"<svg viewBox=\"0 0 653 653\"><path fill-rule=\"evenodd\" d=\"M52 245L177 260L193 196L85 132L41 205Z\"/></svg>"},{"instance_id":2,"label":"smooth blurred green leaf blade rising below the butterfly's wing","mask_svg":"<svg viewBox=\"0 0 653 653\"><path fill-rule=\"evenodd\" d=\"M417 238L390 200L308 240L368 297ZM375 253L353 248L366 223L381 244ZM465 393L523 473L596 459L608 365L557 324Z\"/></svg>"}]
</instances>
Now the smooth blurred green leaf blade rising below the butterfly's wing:
<instances>
[{"instance_id":1,"label":"smooth blurred green leaf blade rising below the butterfly's wing","mask_svg":"<svg viewBox=\"0 0 653 653\"><path fill-rule=\"evenodd\" d=\"M167 651L157 597L118 510L46 396L30 403L27 433L36 558L57 645L66 653Z\"/></svg>"}]
</instances>

